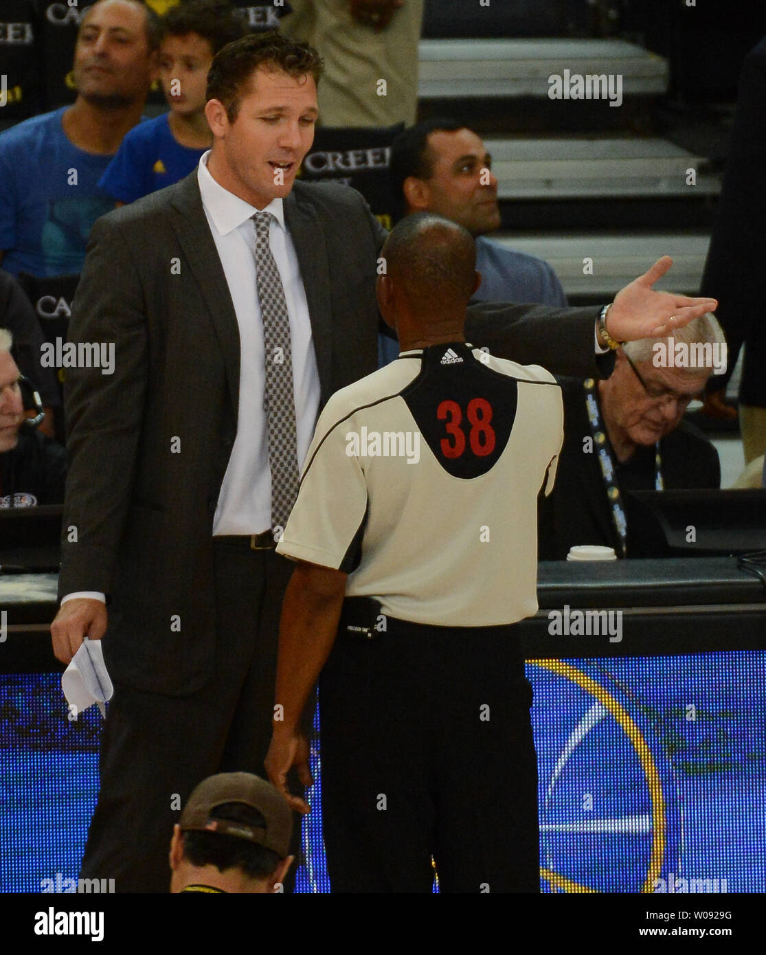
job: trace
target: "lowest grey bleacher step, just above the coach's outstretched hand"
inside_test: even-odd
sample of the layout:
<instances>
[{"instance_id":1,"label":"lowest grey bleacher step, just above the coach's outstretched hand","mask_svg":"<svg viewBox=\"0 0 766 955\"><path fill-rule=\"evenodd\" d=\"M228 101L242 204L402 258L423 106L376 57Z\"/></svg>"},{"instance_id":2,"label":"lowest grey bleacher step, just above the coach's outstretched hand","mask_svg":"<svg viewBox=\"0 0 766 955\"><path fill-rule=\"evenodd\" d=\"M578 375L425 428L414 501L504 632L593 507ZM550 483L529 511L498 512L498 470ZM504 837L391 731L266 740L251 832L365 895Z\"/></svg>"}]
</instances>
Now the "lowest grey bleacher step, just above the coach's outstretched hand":
<instances>
[{"instance_id":1,"label":"lowest grey bleacher step, just above the coach's outstretched hand","mask_svg":"<svg viewBox=\"0 0 766 955\"><path fill-rule=\"evenodd\" d=\"M673 265L656 287L684 295L699 294L710 234L504 233L492 239L549 262L568 298L608 300L661 255L672 256ZM592 260L592 266L587 265L585 259ZM587 274L585 270L590 267L592 274Z\"/></svg>"}]
</instances>

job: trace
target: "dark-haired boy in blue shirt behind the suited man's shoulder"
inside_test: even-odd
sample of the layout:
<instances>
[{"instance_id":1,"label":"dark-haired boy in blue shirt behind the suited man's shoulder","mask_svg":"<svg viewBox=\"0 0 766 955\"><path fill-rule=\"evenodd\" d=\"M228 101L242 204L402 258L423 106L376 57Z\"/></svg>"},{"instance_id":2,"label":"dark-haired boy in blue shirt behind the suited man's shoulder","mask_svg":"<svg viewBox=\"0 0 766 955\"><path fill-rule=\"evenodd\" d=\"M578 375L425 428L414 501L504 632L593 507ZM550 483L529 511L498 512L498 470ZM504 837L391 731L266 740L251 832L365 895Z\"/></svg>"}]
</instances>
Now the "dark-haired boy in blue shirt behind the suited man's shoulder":
<instances>
[{"instance_id":1,"label":"dark-haired boy in blue shirt behind the suited man's shoulder","mask_svg":"<svg viewBox=\"0 0 766 955\"><path fill-rule=\"evenodd\" d=\"M170 111L138 123L98 182L120 204L188 176L212 145L204 117L207 73L213 57L245 33L226 0L186 0L162 18L160 82Z\"/></svg>"}]
</instances>

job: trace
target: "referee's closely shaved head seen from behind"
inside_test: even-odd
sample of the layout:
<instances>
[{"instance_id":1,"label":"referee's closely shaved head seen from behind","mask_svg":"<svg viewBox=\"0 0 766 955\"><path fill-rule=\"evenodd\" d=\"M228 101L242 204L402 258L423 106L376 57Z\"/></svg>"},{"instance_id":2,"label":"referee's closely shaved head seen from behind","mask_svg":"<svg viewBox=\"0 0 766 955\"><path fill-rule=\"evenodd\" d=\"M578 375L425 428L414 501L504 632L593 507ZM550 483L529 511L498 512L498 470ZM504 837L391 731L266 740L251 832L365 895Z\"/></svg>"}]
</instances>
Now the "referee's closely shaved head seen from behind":
<instances>
[{"instance_id":1,"label":"referee's closely shaved head seen from behind","mask_svg":"<svg viewBox=\"0 0 766 955\"><path fill-rule=\"evenodd\" d=\"M471 233L433 212L416 212L398 223L381 256L399 301L424 317L464 309L476 289Z\"/></svg>"}]
</instances>

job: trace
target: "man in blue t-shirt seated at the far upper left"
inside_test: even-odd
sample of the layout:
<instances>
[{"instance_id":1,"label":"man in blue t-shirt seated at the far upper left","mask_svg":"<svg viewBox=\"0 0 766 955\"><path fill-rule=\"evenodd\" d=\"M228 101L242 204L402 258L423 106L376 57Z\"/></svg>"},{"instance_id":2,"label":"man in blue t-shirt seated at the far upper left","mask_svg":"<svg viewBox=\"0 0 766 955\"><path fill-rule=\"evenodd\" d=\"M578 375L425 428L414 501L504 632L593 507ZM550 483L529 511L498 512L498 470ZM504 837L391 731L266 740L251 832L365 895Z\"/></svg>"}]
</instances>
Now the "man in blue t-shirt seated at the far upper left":
<instances>
[{"instance_id":1,"label":"man in blue t-shirt seated at the far upper left","mask_svg":"<svg viewBox=\"0 0 766 955\"><path fill-rule=\"evenodd\" d=\"M82 13L74 104L0 134L0 263L17 275L79 272L91 226L114 203L97 186L140 120L155 74L156 15L139 0Z\"/></svg>"}]
</instances>

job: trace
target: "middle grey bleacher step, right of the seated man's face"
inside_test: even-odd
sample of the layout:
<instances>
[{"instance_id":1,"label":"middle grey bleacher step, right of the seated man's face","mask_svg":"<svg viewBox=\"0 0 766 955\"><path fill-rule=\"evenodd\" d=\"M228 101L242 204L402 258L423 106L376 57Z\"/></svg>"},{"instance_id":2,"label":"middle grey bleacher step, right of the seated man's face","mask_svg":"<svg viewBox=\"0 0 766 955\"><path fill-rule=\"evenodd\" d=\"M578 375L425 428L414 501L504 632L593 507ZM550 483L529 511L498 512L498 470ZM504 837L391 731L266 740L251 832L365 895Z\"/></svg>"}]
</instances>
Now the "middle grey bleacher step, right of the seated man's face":
<instances>
[{"instance_id":1,"label":"middle grey bleacher step, right of the seated man's face","mask_svg":"<svg viewBox=\"0 0 766 955\"><path fill-rule=\"evenodd\" d=\"M707 159L667 139L502 138L484 142L492 155L500 200L689 198L720 191L720 180L707 173Z\"/></svg>"}]
</instances>

